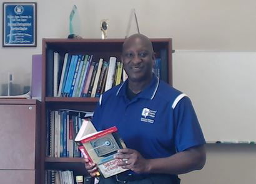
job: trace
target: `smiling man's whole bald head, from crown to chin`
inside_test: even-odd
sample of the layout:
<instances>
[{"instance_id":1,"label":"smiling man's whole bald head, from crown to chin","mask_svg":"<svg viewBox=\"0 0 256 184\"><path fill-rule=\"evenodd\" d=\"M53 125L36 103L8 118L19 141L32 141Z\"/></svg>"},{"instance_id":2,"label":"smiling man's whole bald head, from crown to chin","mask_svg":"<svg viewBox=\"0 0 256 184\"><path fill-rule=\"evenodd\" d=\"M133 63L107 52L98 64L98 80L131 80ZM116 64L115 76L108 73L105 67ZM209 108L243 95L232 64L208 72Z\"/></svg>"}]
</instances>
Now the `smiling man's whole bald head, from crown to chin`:
<instances>
[{"instance_id":1,"label":"smiling man's whole bald head, from crown to chin","mask_svg":"<svg viewBox=\"0 0 256 184\"><path fill-rule=\"evenodd\" d=\"M154 60L152 43L144 35L132 35L124 42L122 62L129 81L145 83L150 81Z\"/></svg>"}]
</instances>

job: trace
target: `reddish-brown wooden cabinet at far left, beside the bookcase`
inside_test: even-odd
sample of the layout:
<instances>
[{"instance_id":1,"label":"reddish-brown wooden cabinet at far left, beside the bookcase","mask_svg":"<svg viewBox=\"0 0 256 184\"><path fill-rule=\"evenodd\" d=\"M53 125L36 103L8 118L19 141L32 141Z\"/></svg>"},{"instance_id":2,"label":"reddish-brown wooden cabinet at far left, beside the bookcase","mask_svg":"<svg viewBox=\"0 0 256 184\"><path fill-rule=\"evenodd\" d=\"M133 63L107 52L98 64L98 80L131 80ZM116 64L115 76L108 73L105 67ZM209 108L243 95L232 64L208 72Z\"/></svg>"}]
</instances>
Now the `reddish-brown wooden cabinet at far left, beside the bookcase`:
<instances>
[{"instance_id":1,"label":"reddish-brown wooden cabinet at far left, beside the bookcase","mask_svg":"<svg viewBox=\"0 0 256 184\"><path fill-rule=\"evenodd\" d=\"M39 180L40 103L0 99L0 183Z\"/></svg>"}]
</instances>

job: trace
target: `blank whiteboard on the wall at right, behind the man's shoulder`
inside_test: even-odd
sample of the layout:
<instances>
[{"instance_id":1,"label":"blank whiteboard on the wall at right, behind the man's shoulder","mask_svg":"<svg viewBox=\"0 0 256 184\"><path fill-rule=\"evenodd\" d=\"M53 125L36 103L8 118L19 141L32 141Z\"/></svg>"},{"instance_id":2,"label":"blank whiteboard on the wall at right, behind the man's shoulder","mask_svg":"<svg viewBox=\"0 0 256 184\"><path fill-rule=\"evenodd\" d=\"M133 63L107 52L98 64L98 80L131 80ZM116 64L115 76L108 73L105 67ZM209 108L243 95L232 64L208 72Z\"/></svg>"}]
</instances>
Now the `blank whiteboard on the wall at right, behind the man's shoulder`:
<instances>
[{"instance_id":1,"label":"blank whiteboard on the wall at right, behind the man's shoulder","mask_svg":"<svg viewBox=\"0 0 256 184\"><path fill-rule=\"evenodd\" d=\"M192 100L207 142L256 140L256 52L176 51L173 85Z\"/></svg>"}]
</instances>

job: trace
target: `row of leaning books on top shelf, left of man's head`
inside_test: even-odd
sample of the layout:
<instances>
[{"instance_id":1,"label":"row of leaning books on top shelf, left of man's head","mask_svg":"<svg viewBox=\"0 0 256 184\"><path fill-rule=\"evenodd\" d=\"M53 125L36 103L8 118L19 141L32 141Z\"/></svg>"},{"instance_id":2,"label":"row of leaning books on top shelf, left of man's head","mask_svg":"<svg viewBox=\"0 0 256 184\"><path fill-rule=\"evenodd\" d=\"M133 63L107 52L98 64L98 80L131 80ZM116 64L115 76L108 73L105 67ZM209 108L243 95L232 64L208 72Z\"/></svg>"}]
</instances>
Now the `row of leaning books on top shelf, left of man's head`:
<instances>
[{"instance_id":1,"label":"row of leaning books on top shelf, left of man's head","mask_svg":"<svg viewBox=\"0 0 256 184\"><path fill-rule=\"evenodd\" d=\"M65 53L64 60L60 58L59 52L54 52L53 96L99 97L127 78L117 57L94 61L93 55Z\"/></svg>"}]
</instances>

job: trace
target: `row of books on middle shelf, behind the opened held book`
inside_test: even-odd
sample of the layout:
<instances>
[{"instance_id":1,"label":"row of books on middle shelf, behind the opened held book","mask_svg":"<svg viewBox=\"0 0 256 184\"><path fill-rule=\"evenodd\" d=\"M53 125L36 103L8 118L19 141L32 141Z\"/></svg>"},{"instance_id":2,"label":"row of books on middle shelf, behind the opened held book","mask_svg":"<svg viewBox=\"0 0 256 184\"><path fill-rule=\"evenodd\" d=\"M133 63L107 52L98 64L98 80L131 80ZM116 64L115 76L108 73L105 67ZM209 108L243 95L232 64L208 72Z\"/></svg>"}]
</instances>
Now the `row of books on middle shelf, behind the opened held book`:
<instances>
[{"instance_id":1,"label":"row of books on middle shelf, behind the opened held book","mask_svg":"<svg viewBox=\"0 0 256 184\"><path fill-rule=\"evenodd\" d=\"M91 117L91 112L60 109L47 112L46 156L81 157L74 139L82 126L84 118Z\"/></svg>"}]
</instances>

